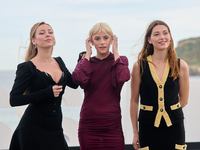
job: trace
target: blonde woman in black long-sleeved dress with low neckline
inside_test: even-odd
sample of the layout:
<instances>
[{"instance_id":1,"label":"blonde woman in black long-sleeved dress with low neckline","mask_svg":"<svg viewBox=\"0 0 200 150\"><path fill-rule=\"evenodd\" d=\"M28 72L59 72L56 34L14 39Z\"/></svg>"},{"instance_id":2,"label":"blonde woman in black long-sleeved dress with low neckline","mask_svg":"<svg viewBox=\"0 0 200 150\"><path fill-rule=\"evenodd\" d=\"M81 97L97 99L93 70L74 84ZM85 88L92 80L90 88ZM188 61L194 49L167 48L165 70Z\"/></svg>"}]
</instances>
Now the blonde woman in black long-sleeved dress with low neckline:
<instances>
[{"instance_id":1,"label":"blonde woman in black long-sleeved dress with low neckline","mask_svg":"<svg viewBox=\"0 0 200 150\"><path fill-rule=\"evenodd\" d=\"M61 100L71 73L60 57L53 58L53 29L36 23L30 32L25 62L17 67L10 92L11 106L29 104L17 126L10 150L68 150L62 129Z\"/></svg>"}]
</instances>

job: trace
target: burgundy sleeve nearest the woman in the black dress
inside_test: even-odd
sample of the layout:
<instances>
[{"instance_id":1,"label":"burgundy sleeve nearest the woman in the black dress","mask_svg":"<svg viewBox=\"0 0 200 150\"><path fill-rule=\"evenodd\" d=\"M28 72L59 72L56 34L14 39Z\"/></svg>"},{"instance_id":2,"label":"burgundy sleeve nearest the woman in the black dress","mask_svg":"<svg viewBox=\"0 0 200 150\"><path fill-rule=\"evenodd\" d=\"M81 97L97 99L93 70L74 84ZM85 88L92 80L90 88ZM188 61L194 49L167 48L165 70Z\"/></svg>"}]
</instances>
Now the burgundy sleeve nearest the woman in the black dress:
<instances>
[{"instance_id":1,"label":"burgundy sleeve nearest the woman in the black dress","mask_svg":"<svg viewBox=\"0 0 200 150\"><path fill-rule=\"evenodd\" d=\"M90 83L90 75L92 73L92 66L90 62L85 58L78 62L75 70L72 73L72 80L75 84L86 88Z\"/></svg>"}]
</instances>

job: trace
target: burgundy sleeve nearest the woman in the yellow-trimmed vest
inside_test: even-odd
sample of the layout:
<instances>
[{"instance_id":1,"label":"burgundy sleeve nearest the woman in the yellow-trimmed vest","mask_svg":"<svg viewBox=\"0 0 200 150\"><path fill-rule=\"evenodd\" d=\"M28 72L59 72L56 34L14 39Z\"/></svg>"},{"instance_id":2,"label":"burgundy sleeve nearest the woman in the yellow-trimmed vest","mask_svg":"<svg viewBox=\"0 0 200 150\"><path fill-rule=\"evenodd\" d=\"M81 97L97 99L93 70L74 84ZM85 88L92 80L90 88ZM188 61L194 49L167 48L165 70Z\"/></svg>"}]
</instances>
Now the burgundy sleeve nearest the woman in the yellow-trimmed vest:
<instances>
[{"instance_id":1,"label":"burgundy sleeve nearest the woman in the yellow-trimmed vest","mask_svg":"<svg viewBox=\"0 0 200 150\"><path fill-rule=\"evenodd\" d=\"M113 63L113 86L119 85L120 87L124 84L124 82L130 79L130 71L128 69L128 59L125 56L120 56Z\"/></svg>"}]
</instances>

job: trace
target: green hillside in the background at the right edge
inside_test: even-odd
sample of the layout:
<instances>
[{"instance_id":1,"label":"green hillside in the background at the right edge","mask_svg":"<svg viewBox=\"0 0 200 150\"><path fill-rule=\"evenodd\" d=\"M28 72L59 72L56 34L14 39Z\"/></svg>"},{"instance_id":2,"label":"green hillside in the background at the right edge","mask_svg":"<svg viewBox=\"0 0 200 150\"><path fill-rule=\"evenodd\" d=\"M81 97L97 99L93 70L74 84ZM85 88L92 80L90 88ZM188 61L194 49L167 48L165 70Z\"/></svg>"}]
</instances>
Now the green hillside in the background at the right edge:
<instances>
[{"instance_id":1,"label":"green hillside in the background at the right edge","mask_svg":"<svg viewBox=\"0 0 200 150\"><path fill-rule=\"evenodd\" d=\"M180 41L176 52L187 62L190 75L200 75L200 37Z\"/></svg>"}]
</instances>

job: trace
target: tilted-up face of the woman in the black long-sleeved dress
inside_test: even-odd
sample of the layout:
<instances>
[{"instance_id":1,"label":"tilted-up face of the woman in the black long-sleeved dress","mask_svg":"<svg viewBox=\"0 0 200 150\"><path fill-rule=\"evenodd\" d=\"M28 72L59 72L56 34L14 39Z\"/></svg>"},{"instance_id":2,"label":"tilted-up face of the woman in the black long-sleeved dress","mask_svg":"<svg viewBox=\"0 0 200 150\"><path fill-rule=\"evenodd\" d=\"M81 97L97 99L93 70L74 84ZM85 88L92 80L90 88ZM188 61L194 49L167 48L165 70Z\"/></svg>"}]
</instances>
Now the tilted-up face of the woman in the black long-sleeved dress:
<instances>
[{"instance_id":1,"label":"tilted-up face of the woman in the black long-sleeved dress","mask_svg":"<svg viewBox=\"0 0 200 150\"><path fill-rule=\"evenodd\" d=\"M55 37L52 28L47 24L40 25L36 32L35 38L32 39L32 43L37 48L50 48L55 44Z\"/></svg>"}]
</instances>

